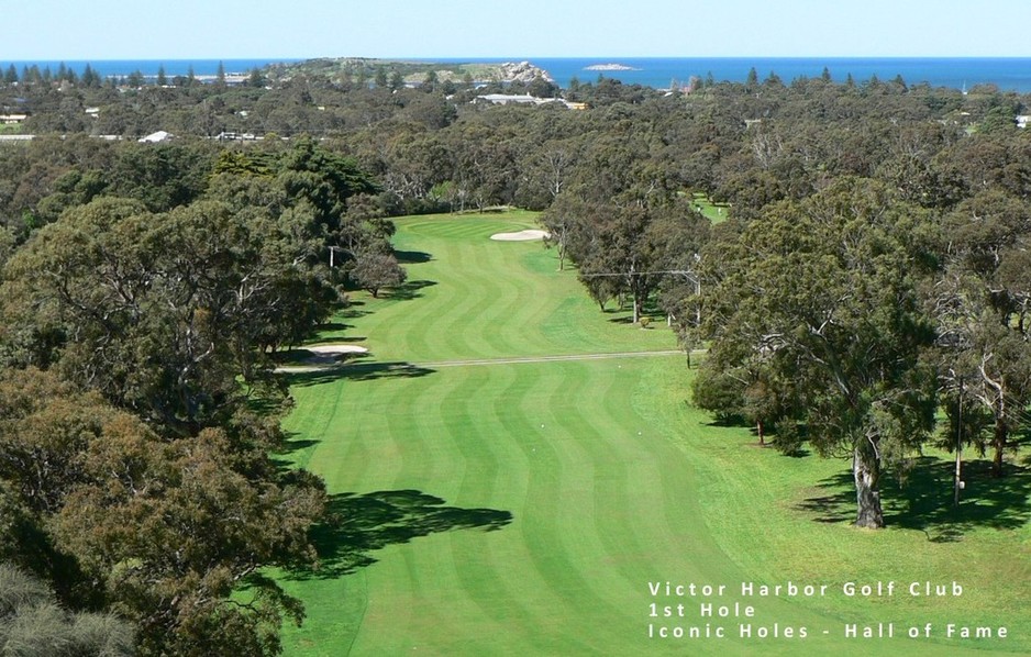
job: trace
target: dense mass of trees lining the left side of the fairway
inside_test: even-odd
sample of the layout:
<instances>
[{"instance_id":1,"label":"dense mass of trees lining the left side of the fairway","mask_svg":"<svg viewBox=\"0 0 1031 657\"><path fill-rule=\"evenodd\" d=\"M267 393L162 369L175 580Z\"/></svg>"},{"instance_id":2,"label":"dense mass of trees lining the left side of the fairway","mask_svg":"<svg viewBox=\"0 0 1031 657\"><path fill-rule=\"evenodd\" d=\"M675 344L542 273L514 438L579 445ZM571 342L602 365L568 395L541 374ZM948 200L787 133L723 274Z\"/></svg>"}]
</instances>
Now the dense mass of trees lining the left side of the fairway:
<instances>
[{"instance_id":1,"label":"dense mass of trees lining the left side of the fairway","mask_svg":"<svg viewBox=\"0 0 1031 657\"><path fill-rule=\"evenodd\" d=\"M5 183L34 202L0 253L0 561L54 609L129 621L110 641L142 654L276 654L302 617L264 569L314 565L324 491L273 458L273 357L345 303L348 269L400 269L392 224L361 211L370 177L311 140L275 146L5 153L32 160ZM77 645L49 654L97 654Z\"/></svg>"}]
</instances>

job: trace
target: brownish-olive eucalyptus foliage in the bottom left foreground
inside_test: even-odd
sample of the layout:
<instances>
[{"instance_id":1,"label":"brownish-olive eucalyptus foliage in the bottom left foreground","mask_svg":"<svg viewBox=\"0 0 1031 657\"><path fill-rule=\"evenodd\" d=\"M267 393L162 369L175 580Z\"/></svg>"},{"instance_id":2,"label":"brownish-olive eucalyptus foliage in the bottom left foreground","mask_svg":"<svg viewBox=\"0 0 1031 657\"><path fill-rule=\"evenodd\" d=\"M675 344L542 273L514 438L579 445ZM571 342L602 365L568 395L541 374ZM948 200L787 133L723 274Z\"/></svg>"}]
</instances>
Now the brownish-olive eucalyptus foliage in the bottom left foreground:
<instances>
[{"instance_id":1,"label":"brownish-olive eucalyptus foliage in the bottom left foreground","mask_svg":"<svg viewBox=\"0 0 1031 657\"><path fill-rule=\"evenodd\" d=\"M267 445L228 428L168 441L53 371L5 371L0 409L0 508L19 520L3 541L21 548L9 558L35 567L66 609L117 613L138 637L133 652L124 622L92 637L76 622L77 650L33 654L278 654L281 620L299 622L301 606L260 569L310 564L317 478L281 471ZM33 615L9 622L2 569L0 583L2 648ZM49 609L37 628L54 635L66 615ZM118 643L90 652L101 639Z\"/></svg>"}]
</instances>

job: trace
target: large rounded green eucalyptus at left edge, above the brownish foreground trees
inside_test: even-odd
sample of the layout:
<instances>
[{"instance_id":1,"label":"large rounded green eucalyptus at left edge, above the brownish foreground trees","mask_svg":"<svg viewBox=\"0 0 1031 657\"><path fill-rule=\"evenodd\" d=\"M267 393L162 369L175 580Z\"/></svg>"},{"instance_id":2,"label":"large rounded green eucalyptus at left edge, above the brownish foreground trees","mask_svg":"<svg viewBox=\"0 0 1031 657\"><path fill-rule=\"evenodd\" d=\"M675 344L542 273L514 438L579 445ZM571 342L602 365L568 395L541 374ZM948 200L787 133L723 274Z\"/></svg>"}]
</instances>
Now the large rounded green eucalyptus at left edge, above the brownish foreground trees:
<instances>
[{"instance_id":1,"label":"large rounded green eucalyptus at left edge, above the brownish foreground trees","mask_svg":"<svg viewBox=\"0 0 1031 657\"><path fill-rule=\"evenodd\" d=\"M201 201L166 214L103 198L66 212L8 261L9 332L25 363L171 434L220 424L270 381L269 347L297 342L336 299L289 221Z\"/></svg>"}]
</instances>

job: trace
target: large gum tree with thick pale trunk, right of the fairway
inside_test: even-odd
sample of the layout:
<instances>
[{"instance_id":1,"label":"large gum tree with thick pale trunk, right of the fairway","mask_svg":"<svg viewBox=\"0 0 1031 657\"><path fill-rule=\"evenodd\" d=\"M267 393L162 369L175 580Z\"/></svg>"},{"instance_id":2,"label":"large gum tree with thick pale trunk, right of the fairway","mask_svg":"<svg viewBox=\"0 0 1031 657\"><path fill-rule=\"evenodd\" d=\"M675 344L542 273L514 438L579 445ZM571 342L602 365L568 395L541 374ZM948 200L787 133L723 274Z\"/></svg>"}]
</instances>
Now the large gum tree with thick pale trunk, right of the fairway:
<instances>
[{"instance_id":1,"label":"large gum tree with thick pale trunk, right of the fairway","mask_svg":"<svg viewBox=\"0 0 1031 657\"><path fill-rule=\"evenodd\" d=\"M710 366L792 382L810 444L852 459L863 527L884 526L882 475L932 427L920 355L933 333L916 293L925 229L876 182L850 179L768 208L703 258L694 337L711 341Z\"/></svg>"}]
</instances>

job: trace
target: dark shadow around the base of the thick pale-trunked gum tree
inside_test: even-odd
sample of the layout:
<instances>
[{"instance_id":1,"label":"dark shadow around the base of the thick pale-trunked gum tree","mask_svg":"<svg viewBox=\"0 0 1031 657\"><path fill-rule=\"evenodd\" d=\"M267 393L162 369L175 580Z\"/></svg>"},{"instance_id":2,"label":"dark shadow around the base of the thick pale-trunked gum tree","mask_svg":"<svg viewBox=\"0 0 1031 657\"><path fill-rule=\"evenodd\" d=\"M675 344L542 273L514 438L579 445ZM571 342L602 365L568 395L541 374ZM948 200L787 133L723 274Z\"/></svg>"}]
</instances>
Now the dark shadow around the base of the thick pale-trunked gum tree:
<instances>
[{"instance_id":1,"label":"dark shadow around the base of the thick pale-trunked gum tree","mask_svg":"<svg viewBox=\"0 0 1031 657\"><path fill-rule=\"evenodd\" d=\"M991 477L986 460L965 461L960 492L960 508L953 505L955 464L929 456L916 459L905 479L890 472L882 479L880 497L888 526L918 530L933 543L961 541L975 527L1015 530L1031 520L1028 489L1031 470L1010 465L1009 475ZM825 523L855 520L855 490L852 472L824 479L819 488L827 494L803 500L797 505L812 513L813 521Z\"/></svg>"}]
</instances>

